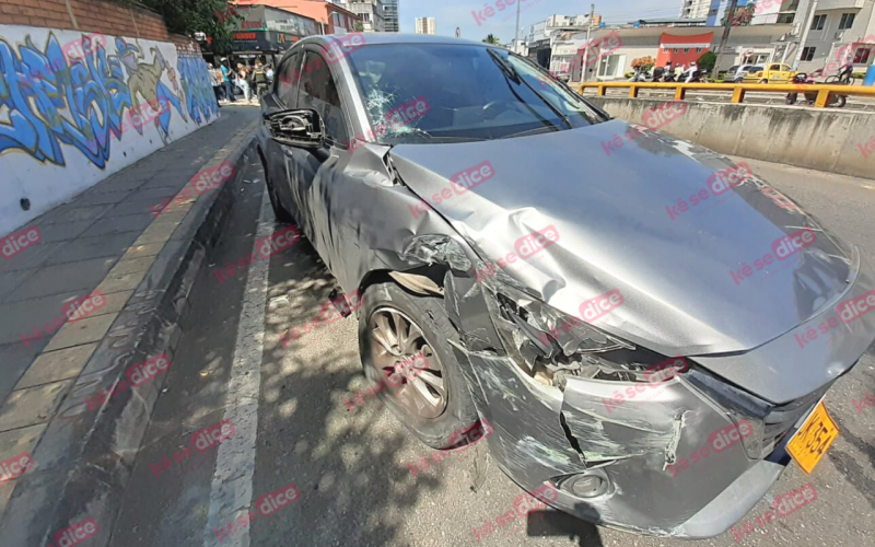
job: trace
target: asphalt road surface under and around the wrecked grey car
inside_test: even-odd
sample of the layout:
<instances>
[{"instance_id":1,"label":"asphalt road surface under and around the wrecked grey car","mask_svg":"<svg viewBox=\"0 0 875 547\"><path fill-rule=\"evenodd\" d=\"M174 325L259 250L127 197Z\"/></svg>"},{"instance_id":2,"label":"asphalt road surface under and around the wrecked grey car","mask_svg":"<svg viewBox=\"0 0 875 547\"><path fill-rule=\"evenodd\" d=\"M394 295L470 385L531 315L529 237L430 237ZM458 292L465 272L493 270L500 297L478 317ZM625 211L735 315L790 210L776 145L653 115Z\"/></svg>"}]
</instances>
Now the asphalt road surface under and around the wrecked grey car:
<instances>
[{"instance_id":1,"label":"asphalt road surface under and around the wrecked grey car","mask_svg":"<svg viewBox=\"0 0 875 547\"><path fill-rule=\"evenodd\" d=\"M749 163L875 261L875 182ZM258 237L281 228L264 198L260 166L249 166L244 178L211 270L247 258ZM353 317L288 348L280 342L289 327L319 315L335 287L306 240L269 263L256 259L234 274L198 279L113 545L691 545L598 528L556 512L517 520L478 542L472 526L494 522L523 493L490 461L485 443L415 476L407 464L432 451L377 399L350 409L345 404L365 384ZM841 428L828 457L810 476L791 464L746 519L769 510L771 497L809 481L817 500L740 543L875 544L875 407L858 414L852 404L875 392L874 353L871 348L827 397ZM198 444L197 432L222 420L231 420L233 435L218 447ZM296 501L275 505L267 517L242 517L245 527L215 532L241 514L236 509L255 510L265 494L290 484L300 492ZM725 533L692 544L738 542Z\"/></svg>"}]
</instances>

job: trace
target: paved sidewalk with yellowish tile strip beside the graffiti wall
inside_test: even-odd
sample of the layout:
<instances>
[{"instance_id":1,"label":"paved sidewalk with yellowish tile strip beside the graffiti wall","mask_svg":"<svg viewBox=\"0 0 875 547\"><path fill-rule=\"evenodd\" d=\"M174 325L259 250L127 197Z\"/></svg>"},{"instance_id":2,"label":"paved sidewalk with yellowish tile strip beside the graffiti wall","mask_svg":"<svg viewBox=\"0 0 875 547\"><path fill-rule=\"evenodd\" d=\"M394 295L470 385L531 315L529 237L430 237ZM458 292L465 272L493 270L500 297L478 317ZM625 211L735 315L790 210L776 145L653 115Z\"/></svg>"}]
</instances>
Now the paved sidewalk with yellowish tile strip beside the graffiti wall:
<instances>
[{"instance_id":1,"label":"paved sidewalk with yellowish tile strip beside the graffiti wall","mask_svg":"<svg viewBox=\"0 0 875 547\"><path fill-rule=\"evenodd\" d=\"M182 365L191 283L242 166L258 161L260 110L221 114L15 230L35 225L42 238L0 259L3 545L47 545L90 517L89 545L108 539L162 373Z\"/></svg>"}]
</instances>

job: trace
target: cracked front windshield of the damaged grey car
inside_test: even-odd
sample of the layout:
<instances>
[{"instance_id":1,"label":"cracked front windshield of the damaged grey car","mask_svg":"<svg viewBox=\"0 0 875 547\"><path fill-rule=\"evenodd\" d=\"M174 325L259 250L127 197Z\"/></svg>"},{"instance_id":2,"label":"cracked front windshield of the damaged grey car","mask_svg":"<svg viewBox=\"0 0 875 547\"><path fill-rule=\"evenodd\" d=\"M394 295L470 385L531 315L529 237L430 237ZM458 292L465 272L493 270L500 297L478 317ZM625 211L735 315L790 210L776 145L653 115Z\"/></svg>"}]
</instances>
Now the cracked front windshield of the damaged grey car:
<instances>
[{"instance_id":1,"label":"cracked front windshield of the damaged grey car","mask_svg":"<svg viewBox=\"0 0 875 547\"><path fill-rule=\"evenodd\" d=\"M380 44L348 60L383 143L501 139L603 121L556 77L506 49Z\"/></svg>"}]
</instances>

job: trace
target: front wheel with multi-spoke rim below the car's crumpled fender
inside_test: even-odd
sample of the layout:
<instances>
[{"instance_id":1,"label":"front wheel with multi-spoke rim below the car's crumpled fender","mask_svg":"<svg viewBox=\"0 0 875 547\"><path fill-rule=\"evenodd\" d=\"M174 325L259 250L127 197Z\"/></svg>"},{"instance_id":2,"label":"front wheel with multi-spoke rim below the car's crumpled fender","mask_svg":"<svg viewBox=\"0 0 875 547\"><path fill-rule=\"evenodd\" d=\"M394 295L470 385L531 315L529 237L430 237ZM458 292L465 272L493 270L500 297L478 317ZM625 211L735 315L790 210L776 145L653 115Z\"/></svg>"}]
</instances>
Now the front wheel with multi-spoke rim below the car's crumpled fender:
<instances>
[{"instance_id":1,"label":"front wheel with multi-spoke rim below the car's crumpled fender","mask_svg":"<svg viewBox=\"0 0 875 547\"><path fill-rule=\"evenodd\" d=\"M369 385L375 386L389 410L420 441L433 449L450 447L456 442L454 433L477 423L478 415L450 345L450 340L458 341L458 333L450 323L443 299L415 295L394 282L385 282L369 287L362 300L359 351ZM402 323L399 326L399 322L405 321L408 322L406 330ZM406 331L407 336L386 336L386 327L390 330L393 326L396 334ZM381 337L384 344L378 341ZM392 344L396 340L406 340L405 347ZM386 345L398 351L387 351ZM425 357L425 368L417 369L407 377L398 375L392 380L388 371L397 372L397 362L409 361L418 353ZM392 364L393 360L396 364ZM432 404L441 397L435 388L438 380L443 388L443 400ZM422 407L416 409L417 404Z\"/></svg>"}]
</instances>

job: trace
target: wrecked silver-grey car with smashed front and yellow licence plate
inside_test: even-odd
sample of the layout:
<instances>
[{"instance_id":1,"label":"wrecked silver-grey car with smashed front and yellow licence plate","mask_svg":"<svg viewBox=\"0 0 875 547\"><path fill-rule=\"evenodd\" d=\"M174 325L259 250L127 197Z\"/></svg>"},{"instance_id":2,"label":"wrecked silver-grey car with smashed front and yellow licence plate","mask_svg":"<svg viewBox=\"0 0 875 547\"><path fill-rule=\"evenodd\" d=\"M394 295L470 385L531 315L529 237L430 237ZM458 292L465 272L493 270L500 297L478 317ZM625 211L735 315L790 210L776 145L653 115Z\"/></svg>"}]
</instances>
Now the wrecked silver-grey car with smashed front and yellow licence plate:
<instances>
[{"instance_id":1,"label":"wrecked silver-grey car with smashed front and yellow licence plate","mask_svg":"<svg viewBox=\"0 0 875 547\"><path fill-rule=\"evenodd\" d=\"M550 505L664 536L724 532L791 456L810 470L838 434L824 394L875 340L855 247L506 49L350 36L283 55L257 147L415 435L487 437Z\"/></svg>"}]
</instances>

